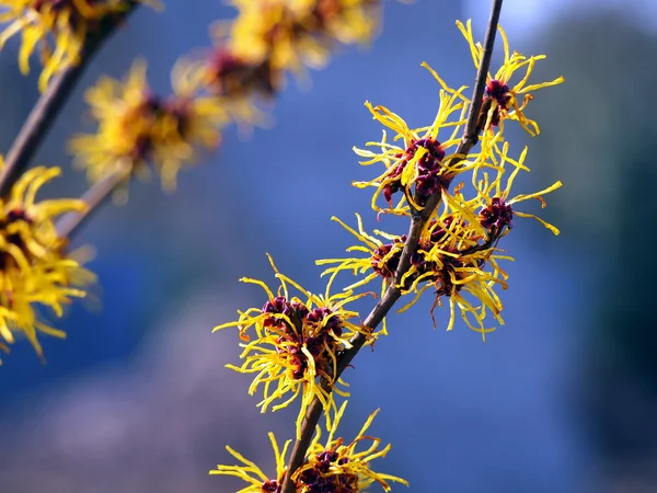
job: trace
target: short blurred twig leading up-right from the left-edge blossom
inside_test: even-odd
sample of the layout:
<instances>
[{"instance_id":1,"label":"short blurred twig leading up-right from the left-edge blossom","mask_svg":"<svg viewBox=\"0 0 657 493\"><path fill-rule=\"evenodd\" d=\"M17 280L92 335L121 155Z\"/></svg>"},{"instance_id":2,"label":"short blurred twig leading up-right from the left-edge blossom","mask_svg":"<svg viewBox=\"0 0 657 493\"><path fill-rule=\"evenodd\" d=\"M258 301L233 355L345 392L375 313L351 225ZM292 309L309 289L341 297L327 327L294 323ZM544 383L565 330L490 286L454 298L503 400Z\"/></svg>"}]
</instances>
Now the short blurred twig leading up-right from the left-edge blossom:
<instances>
[{"instance_id":1,"label":"short blurred twig leading up-right from the left-edge blossom","mask_svg":"<svg viewBox=\"0 0 657 493\"><path fill-rule=\"evenodd\" d=\"M57 221L57 237L70 240L82 225L89 220L91 215L112 196L112 193L129 179L131 170L130 163L119 163L118 170L94 183L81 197L87 204L87 209L82 213L69 213Z\"/></svg>"}]
</instances>

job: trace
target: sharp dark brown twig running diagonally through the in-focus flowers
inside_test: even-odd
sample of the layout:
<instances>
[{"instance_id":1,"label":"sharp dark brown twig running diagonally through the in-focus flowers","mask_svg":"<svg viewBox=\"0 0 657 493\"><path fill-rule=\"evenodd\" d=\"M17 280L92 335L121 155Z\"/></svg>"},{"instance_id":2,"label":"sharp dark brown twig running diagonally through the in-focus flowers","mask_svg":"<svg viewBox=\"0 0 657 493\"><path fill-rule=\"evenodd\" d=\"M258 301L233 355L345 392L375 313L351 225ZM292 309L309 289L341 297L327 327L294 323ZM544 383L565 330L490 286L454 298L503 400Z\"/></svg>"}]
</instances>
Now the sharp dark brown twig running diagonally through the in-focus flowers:
<instances>
[{"instance_id":1,"label":"sharp dark brown twig running diagonally through the in-focus flowers","mask_svg":"<svg viewBox=\"0 0 657 493\"><path fill-rule=\"evenodd\" d=\"M503 0L493 0L491 8L491 18L488 19L488 26L486 30L486 38L484 41L484 54L482 56L480 67L476 74L476 82L472 94L472 105L470 106L470 113L468 114L468 123L463 130L463 137L456 151L456 159L462 161L466 158L468 153L472 150L475 144L479 141L479 135L481 133L481 126L479 125L479 116L483 104L484 89L486 87L486 76L491 66L491 58L493 56L493 47L495 45L495 34L497 32L497 24L499 22L499 13L502 11ZM456 164L452 162L452 164ZM392 283L385 294L381 297L379 302L374 306L372 311L365 319L364 325L370 331L373 331L383 318L388 314L395 301L402 296L402 277L411 267L411 255L415 251L419 241L419 236L434 213L436 207L441 199L441 193L434 194L428 198L425 207L420 211L416 211L411 221L411 228L408 230L406 243L400 257L400 264L395 273L395 280ZM350 343L351 347L345 349L339 356L337 362L337 371L333 376L333 381L342 375L345 368L350 364L356 354L367 342L367 335L358 333L356 334ZM324 390L331 391L331 382L327 380L322 381ZM309 405L303 423L301 424L301 433L292 448L292 454L288 462L288 467L283 481L283 493L295 493L296 485L295 481L291 481L291 477L302 466L312 440L312 436L316 424L323 412L322 403L318 398L314 398L312 403Z\"/></svg>"}]
</instances>

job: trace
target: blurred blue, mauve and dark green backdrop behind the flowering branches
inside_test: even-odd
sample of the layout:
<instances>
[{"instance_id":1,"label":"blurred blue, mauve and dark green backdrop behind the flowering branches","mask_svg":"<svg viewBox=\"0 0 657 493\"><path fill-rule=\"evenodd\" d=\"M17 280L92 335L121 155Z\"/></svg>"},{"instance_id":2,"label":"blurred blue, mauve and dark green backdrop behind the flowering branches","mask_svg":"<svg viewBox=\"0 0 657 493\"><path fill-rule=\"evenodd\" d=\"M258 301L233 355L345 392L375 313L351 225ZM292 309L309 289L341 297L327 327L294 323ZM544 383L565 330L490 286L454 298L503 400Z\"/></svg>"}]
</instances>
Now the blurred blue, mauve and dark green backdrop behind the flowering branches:
<instances>
[{"instance_id":1,"label":"blurred blue, mauve and dark green backdrop behind the flowering branches","mask_svg":"<svg viewBox=\"0 0 657 493\"><path fill-rule=\"evenodd\" d=\"M142 56L165 91L175 59L208 43L208 21L233 15L220 2L165 3L130 19L81 89ZM235 334L211 329L263 303L238 278L273 280L265 252L323 289L313 261L354 243L331 216L351 222L361 211L376 227L369 193L350 186L372 173L351 146L380 136L362 103L430 122L438 85L419 64L471 84L454 20L472 18L482 38L487 14L485 0L385 2L372 46L338 49L310 84L289 81L273 128L227 131L173 195L137 183L126 206L104 208L78 239L97 252L100 301L72 307L66 341L43 339L47 365L26 342L3 358L0 493L230 493L241 483L207 474L234 463L226 444L273 471L266 433L291 437L296 411L261 415L250 379L224 368L238 362ZM486 343L459 323L446 332L440 318L434 330L430 300L391 317L390 336L345 375L342 434L381 408L371 433L393 449L377 469L413 492L656 492L657 4L506 0L502 23L514 49L549 55L534 81L566 78L529 106L542 134L516 136L532 168L517 191L564 183L541 211L562 234L517 221L504 241L516 257L506 324ZM21 78L16 48L13 39L0 57L3 152L37 98L37 70ZM54 195L84 190L65 152L72 133L91 128L81 94L38 154L67 170Z\"/></svg>"}]
</instances>

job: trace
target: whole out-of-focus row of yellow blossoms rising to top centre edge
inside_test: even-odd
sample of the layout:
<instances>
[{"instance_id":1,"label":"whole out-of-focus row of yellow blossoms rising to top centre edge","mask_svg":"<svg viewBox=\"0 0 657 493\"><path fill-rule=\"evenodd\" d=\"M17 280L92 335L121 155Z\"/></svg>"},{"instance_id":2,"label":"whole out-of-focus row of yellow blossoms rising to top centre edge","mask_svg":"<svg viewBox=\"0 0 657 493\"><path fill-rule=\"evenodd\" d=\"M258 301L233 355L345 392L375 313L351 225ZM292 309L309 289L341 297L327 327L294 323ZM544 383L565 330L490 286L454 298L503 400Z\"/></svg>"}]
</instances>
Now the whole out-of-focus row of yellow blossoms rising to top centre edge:
<instances>
[{"instance_id":1,"label":"whole out-of-focus row of yellow blossoms rising to top centre edge","mask_svg":"<svg viewBox=\"0 0 657 493\"><path fill-rule=\"evenodd\" d=\"M228 124L266 122L253 96L277 92L286 71L325 62L335 42L369 41L379 3L235 1L239 15L218 28L218 46L174 66L173 95L150 90L142 62L124 81L104 77L91 88L85 99L97 129L73 137L70 150L92 183L126 168L125 182L132 174L148 175L145 164L150 163L163 187L172 190L180 170L197 158L198 149L215 149Z\"/></svg>"}]
</instances>

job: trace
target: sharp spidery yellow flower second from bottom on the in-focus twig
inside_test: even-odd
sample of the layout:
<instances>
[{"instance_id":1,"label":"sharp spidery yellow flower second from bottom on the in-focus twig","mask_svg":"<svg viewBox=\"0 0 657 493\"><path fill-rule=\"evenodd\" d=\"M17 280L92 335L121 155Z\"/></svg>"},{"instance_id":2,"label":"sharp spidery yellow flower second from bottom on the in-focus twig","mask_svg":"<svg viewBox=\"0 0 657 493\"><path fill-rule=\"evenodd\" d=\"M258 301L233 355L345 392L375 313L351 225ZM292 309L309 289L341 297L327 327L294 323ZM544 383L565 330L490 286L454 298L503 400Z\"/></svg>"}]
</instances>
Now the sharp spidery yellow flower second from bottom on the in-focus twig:
<instances>
[{"instance_id":1,"label":"sharp spidery yellow flower second from bottom on the in-focus twig","mask_svg":"<svg viewBox=\"0 0 657 493\"><path fill-rule=\"evenodd\" d=\"M277 295L275 296L262 280L242 278L244 283L261 286L267 294L267 301L262 309L239 311L239 320L215 328L217 331L238 326L241 339L245 341L241 344L243 352L240 356L244 363L239 367L228 367L243 374L256 375L249 393L253 395L261 386L263 387L263 400L258 403L263 412L277 401L283 400L273 405L273 411L287 406L300 397L297 433L313 398L322 402L330 426L332 414L335 413L331 390L347 395L336 385L346 383L334 378L338 353L351 346L349 339L356 333L367 334L369 343L377 335L370 334L370 331L362 326L358 312L346 308L346 305L367 294L354 295L346 290L331 295L332 277L325 294L314 295L280 274L270 256L269 262L280 282ZM304 298L290 296L288 284ZM353 322L354 319L356 322ZM254 334L250 335L251 332ZM322 387L320 379L330 383L328 391Z\"/></svg>"}]
</instances>

